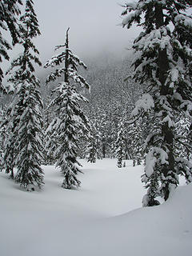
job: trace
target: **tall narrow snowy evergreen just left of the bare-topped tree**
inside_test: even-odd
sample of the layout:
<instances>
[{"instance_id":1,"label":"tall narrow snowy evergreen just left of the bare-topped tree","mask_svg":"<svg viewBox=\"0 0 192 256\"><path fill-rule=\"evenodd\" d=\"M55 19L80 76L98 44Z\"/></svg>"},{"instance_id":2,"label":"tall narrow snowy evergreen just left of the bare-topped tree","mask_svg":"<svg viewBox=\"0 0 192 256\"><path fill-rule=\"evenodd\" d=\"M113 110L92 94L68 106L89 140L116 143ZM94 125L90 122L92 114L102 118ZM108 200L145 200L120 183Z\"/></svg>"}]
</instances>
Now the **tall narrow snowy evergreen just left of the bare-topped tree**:
<instances>
[{"instance_id":1,"label":"tall narrow snowy evergreen just left of the bare-topped tree","mask_svg":"<svg viewBox=\"0 0 192 256\"><path fill-rule=\"evenodd\" d=\"M18 172L15 181L27 190L30 186L43 184L42 141L39 134L42 129L42 98L38 87L40 83L34 76L34 64L38 59L38 50L32 38L38 36L38 19L34 13L34 2L26 0L25 13L20 18L19 26L23 52L11 64L9 82L15 90L14 102L10 105L10 136L7 150L14 150L14 166ZM7 151L6 150L6 151ZM5 162L12 157L6 152Z\"/></svg>"}]
</instances>

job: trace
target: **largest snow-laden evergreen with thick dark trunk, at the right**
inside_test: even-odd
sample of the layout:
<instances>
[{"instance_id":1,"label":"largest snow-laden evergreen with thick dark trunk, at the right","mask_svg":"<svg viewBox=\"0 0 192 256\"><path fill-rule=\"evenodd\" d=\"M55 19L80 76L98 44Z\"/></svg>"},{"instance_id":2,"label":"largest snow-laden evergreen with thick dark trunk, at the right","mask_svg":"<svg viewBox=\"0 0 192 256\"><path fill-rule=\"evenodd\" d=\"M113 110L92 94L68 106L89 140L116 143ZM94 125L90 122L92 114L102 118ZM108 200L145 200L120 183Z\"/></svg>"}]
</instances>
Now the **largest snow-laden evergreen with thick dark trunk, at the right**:
<instances>
[{"instance_id":1,"label":"largest snow-laden evergreen with thick dark trunk, at the right","mask_svg":"<svg viewBox=\"0 0 192 256\"><path fill-rule=\"evenodd\" d=\"M146 167L142 181L148 187L145 205L153 205L161 195L165 200L178 186L178 174L192 181L192 168L186 158L178 158L175 141L178 113L191 114L191 33L190 0L139 0L128 2L122 13L122 26L134 22L143 32L134 40L135 81L145 86L145 94L134 109L134 116L148 110L154 113L154 129L146 139ZM147 201L147 202L146 202Z\"/></svg>"}]
</instances>

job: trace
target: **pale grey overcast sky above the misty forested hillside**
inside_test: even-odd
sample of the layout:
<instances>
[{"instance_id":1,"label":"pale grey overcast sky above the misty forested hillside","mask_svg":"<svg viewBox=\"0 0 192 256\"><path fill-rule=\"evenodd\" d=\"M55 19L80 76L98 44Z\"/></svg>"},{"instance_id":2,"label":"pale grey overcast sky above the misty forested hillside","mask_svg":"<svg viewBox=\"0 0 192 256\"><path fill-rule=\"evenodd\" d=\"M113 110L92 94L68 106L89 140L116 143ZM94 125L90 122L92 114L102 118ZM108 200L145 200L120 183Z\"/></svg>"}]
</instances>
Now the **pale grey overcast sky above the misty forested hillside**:
<instances>
[{"instance_id":1,"label":"pale grey overcast sky above the misty forested hillside","mask_svg":"<svg viewBox=\"0 0 192 256\"><path fill-rule=\"evenodd\" d=\"M42 61L54 53L54 46L65 40L70 27L70 48L80 58L102 51L122 54L135 37L135 28L122 29L119 0L34 0L42 36L37 39Z\"/></svg>"}]
</instances>

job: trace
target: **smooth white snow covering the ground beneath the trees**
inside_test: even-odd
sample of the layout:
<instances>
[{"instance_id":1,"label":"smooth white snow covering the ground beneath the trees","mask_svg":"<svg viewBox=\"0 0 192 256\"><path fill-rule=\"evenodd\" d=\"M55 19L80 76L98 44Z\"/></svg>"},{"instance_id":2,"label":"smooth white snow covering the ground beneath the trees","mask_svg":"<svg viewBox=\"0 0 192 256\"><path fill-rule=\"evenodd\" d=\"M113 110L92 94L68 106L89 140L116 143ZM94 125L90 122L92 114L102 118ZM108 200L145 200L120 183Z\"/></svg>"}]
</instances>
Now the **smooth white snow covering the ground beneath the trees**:
<instances>
[{"instance_id":1,"label":"smooth white snow covering the ground beneath the trees","mask_svg":"<svg viewBox=\"0 0 192 256\"><path fill-rule=\"evenodd\" d=\"M81 162L78 190L62 189L54 166L43 166L42 191L24 192L0 173L1 256L190 256L192 184L141 208L143 166Z\"/></svg>"}]
</instances>

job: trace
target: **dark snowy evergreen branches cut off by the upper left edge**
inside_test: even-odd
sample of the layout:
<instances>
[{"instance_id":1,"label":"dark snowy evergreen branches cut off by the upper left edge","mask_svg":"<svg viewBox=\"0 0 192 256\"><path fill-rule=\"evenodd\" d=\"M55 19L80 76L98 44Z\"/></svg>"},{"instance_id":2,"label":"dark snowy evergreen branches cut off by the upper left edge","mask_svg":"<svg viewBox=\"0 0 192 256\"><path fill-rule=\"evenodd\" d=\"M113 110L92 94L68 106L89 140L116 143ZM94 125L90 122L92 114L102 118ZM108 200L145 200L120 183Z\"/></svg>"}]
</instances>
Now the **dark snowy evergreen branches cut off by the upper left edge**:
<instances>
[{"instance_id":1,"label":"dark snowy evergreen branches cut off by the upper left edge","mask_svg":"<svg viewBox=\"0 0 192 256\"><path fill-rule=\"evenodd\" d=\"M12 38L12 44L15 45L19 42L19 30L17 17L21 13L19 5L22 4L21 0L2 0L0 2L0 29L9 30ZM2 37L2 31L0 30L0 62L2 62L2 57L9 60L9 55L7 50L10 50L11 44ZM4 86L2 86L3 71L0 67L0 90L6 92Z\"/></svg>"}]
</instances>

